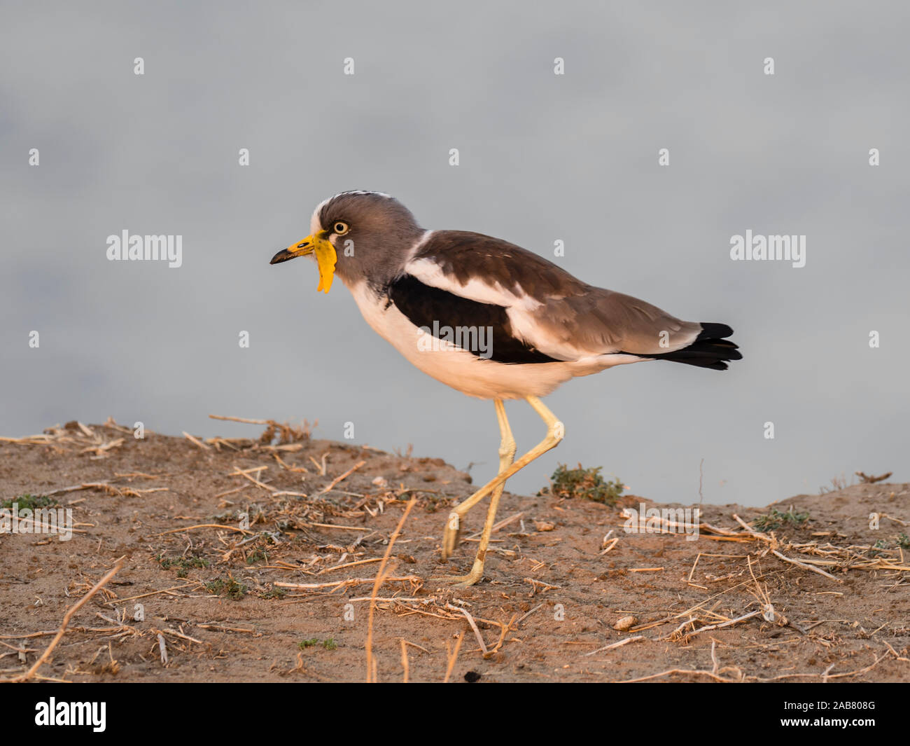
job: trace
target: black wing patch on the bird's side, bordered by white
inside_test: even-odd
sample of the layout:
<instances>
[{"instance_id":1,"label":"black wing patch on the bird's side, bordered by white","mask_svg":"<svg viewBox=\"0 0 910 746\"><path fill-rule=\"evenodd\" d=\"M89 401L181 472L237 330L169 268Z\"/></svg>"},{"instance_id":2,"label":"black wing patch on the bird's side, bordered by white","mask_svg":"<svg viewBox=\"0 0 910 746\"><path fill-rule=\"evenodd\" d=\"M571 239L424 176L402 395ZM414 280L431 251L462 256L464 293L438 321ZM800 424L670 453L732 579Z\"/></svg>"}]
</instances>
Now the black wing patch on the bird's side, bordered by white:
<instances>
[{"instance_id":1,"label":"black wing patch on the bird's side, bordered by white","mask_svg":"<svg viewBox=\"0 0 910 746\"><path fill-rule=\"evenodd\" d=\"M468 339L479 339L480 333L486 334L486 350L470 349L470 345L465 348L478 357L486 357L486 353L490 353L489 359L497 363L560 362L515 337L509 316L502 306L470 301L425 285L410 274L392 282L388 292L389 300L412 324L426 327L438 339L446 339L447 332L442 331L446 327L451 330L460 328L462 337ZM472 334L469 335L468 330L473 330Z\"/></svg>"}]
</instances>

